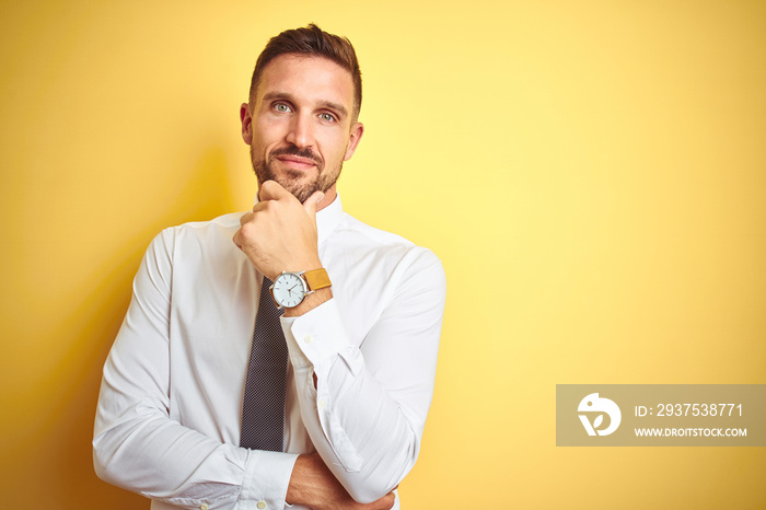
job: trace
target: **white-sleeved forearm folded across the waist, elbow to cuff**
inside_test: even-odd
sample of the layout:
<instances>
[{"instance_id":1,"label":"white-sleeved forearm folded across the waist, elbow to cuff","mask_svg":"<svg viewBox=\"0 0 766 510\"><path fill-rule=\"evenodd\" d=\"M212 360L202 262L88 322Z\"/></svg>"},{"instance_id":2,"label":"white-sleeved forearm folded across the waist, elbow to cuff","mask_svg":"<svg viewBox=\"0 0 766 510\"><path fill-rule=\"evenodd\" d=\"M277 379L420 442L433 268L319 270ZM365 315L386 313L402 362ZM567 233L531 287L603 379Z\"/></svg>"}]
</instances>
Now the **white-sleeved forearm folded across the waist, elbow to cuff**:
<instances>
[{"instance_id":1,"label":"white-sleeved forearm folded across the waist, elbow to cuff","mask_svg":"<svg viewBox=\"0 0 766 510\"><path fill-rule=\"evenodd\" d=\"M248 451L182 426L151 398L136 398L111 361L93 454L96 474L105 482L186 508L233 508L244 500L281 508L297 457Z\"/></svg>"}]
</instances>

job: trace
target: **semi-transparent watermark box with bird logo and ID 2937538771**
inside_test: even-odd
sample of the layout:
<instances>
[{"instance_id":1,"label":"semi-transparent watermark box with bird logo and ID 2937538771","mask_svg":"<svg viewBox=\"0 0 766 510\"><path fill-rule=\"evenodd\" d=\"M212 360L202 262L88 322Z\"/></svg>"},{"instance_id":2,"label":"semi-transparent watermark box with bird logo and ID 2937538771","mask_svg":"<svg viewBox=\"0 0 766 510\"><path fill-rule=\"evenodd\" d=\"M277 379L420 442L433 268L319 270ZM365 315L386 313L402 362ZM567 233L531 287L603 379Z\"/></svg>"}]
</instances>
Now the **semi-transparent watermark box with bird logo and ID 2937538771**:
<instances>
[{"instance_id":1,"label":"semi-transparent watermark box with bird logo and ID 2937538771","mask_svg":"<svg viewBox=\"0 0 766 510\"><path fill-rule=\"evenodd\" d=\"M556 384L556 445L766 447L766 384Z\"/></svg>"}]
</instances>

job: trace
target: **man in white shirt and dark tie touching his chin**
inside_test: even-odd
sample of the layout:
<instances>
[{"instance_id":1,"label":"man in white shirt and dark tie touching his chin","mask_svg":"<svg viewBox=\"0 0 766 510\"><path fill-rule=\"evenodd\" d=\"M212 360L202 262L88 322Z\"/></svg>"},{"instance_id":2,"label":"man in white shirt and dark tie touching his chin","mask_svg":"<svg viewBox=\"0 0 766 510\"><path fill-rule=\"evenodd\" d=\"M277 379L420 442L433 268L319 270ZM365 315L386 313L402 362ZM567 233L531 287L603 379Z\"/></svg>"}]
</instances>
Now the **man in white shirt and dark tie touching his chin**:
<instances>
[{"instance_id":1,"label":"man in white shirt and dark tie touching his chin","mask_svg":"<svg viewBox=\"0 0 766 510\"><path fill-rule=\"evenodd\" d=\"M431 252L343 211L360 106L348 39L268 43L240 112L258 200L149 246L104 367L100 477L152 509L398 508L445 287Z\"/></svg>"}]
</instances>

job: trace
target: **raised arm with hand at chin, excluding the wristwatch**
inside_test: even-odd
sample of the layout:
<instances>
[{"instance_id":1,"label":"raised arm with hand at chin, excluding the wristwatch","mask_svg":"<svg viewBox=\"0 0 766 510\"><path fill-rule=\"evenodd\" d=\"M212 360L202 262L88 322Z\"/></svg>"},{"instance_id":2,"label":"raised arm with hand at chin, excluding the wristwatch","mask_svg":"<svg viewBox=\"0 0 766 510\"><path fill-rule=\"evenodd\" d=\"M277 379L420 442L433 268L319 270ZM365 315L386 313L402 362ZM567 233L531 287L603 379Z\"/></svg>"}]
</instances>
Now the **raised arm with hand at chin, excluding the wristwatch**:
<instances>
[{"instance_id":1,"label":"raised arm with hand at chin, excluding the wristwatch","mask_svg":"<svg viewBox=\"0 0 766 510\"><path fill-rule=\"evenodd\" d=\"M317 192L301 205L265 182L234 243L270 279L322 267L314 217L321 198ZM411 250L388 283L387 305L364 338L347 336L329 291L282 317L303 424L327 467L362 502L388 494L415 463L444 308L443 269L426 250Z\"/></svg>"}]
</instances>

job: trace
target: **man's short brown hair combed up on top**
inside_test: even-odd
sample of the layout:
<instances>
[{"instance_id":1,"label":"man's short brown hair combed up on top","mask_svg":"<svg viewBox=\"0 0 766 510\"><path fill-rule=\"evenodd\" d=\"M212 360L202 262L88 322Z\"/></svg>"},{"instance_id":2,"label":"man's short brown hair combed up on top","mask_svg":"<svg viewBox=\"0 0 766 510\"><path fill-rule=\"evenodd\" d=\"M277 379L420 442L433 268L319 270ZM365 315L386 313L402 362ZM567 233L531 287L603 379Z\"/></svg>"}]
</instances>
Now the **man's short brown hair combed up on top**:
<instances>
[{"instance_id":1,"label":"man's short brown hair combed up on top","mask_svg":"<svg viewBox=\"0 0 766 510\"><path fill-rule=\"evenodd\" d=\"M362 106L362 72L353 46L348 38L328 34L314 23L302 28L285 31L269 39L255 62L249 83L251 101L255 98L258 81L268 62L287 54L324 57L350 72L353 80L353 117L359 116Z\"/></svg>"}]
</instances>

